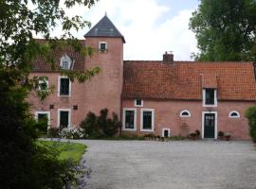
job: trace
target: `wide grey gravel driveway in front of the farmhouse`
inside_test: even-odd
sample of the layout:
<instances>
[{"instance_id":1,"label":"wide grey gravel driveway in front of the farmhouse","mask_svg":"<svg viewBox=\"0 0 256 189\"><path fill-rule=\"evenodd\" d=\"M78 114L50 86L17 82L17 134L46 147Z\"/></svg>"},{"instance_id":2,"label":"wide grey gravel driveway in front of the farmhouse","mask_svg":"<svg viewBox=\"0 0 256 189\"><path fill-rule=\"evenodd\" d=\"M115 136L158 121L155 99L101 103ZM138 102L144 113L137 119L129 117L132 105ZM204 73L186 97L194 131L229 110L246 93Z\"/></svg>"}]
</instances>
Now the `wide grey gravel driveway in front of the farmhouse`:
<instances>
[{"instance_id":1,"label":"wide grey gravel driveway in front of the farmhouse","mask_svg":"<svg viewBox=\"0 0 256 189\"><path fill-rule=\"evenodd\" d=\"M250 142L80 141L91 189L255 189Z\"/></svg>"}]
</instances>

